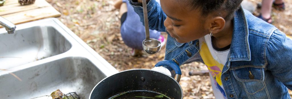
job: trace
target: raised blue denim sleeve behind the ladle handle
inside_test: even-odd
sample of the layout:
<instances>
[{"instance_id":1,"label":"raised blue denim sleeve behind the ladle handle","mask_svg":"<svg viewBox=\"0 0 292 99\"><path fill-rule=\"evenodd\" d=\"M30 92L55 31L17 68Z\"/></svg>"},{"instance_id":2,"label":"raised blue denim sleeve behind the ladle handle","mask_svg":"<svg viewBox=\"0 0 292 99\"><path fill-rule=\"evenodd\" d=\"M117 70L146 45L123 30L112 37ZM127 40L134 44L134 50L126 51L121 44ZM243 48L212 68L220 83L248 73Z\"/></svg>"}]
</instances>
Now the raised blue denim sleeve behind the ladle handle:
<instances>
[{"instance_id":1,"label":"raised blue denim sleeve behind the ladle handle","mask_svg":"<svg viewBox=\"0 0 292 99\"><path fill-rule=\"evenodd\" d=\"M133 6L134 11L139 15L140 21L144 25L143 8L141 6L142 4L133 1L134 0L129 0L129 3ZM147 3L147 11L149 28L151 30L165 32L164 20L166 19L166 14L164 14L162 11L159 3L157 3L155 0L149 0Z\"/></svg>"}]
</instances>

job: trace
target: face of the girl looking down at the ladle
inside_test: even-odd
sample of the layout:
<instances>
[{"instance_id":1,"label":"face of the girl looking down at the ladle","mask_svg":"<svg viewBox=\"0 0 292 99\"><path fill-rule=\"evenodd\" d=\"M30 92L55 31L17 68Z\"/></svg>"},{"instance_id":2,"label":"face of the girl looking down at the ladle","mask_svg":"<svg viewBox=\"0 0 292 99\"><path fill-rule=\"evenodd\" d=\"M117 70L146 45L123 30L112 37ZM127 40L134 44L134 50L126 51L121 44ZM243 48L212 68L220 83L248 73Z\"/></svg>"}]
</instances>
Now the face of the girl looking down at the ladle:
<instances>
[{"instance_id":1,"label":"face of the girl looking down at the ladle","mask_svg":"<svg viewBox=\"0 0 292 99\"><path fill-rule=\"evenodd\" d=\"M206 20L199 10L190 10L191 7L180 0L160 0L161 8L167 15L164 26L171 37L179 43L197 40L209 34Z\"/></svg>"}]
</instances>

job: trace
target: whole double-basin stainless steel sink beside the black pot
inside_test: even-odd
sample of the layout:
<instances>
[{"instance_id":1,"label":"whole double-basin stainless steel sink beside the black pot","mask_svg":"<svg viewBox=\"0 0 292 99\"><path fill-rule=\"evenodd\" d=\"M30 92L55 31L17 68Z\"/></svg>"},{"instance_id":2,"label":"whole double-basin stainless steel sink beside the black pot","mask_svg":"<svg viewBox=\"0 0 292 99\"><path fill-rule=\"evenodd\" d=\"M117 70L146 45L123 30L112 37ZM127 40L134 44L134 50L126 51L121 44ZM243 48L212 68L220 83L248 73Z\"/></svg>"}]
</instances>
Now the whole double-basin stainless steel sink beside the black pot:
<instances>
[{"instance_id":1,"label":"whole double-basin stainless steel sink beside the black pot","mask_svg":"<svg viewBox=\"0 0 292 99\"><path fill-rule=\"evenodd\" d=\"M99 81L118 72L58 19L16 27L15 34L0 29L1 99L49 99L45 95L57 89L86 99Z\"/></svg>"}]
</instances>

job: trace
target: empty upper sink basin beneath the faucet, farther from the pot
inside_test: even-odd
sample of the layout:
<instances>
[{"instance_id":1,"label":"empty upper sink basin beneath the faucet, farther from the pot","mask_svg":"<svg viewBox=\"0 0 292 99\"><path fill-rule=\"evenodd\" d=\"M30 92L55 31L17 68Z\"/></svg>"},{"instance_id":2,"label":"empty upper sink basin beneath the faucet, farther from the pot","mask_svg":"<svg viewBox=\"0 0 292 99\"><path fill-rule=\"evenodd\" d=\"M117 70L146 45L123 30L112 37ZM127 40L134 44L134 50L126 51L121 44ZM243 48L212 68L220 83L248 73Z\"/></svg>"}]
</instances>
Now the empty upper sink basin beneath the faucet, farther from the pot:
<instances>
[{"instance_id":1,"label":"empty upper sink basin beneath the faucet, farther from the pot","mask_svg":"<svg viewBox=\"0 0 292 99\"><path fill-rule=\"evenodd\" d=\"M0 68L34 62L68 51L71 44L52 26L33 26L0 34Z\"/></svg>"}]
</instances>

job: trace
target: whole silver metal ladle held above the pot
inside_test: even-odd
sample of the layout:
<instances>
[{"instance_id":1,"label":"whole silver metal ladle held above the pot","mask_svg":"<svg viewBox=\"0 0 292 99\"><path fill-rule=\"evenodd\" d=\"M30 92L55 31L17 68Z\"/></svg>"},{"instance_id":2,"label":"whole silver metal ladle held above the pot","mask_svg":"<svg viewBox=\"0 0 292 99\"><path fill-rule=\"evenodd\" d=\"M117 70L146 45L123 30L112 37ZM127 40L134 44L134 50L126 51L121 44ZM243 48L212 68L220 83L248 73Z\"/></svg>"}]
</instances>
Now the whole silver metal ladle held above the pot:
<instances>
[{"instance_id":1,"label":"whole silver metal ladle held above the pot","mask_svg":"<svg viewBox=\"0 0 292 99\"><path fill-rule=\"evenodd\" d=\"M145 23L145 32L146 32L146 39L142 43L143 49L148 54L155 54L159 51L161 42L157 39L150 38L146 0L142 0L142 5L143 5L144 23Z\"/></svg>"}]
</instances>

